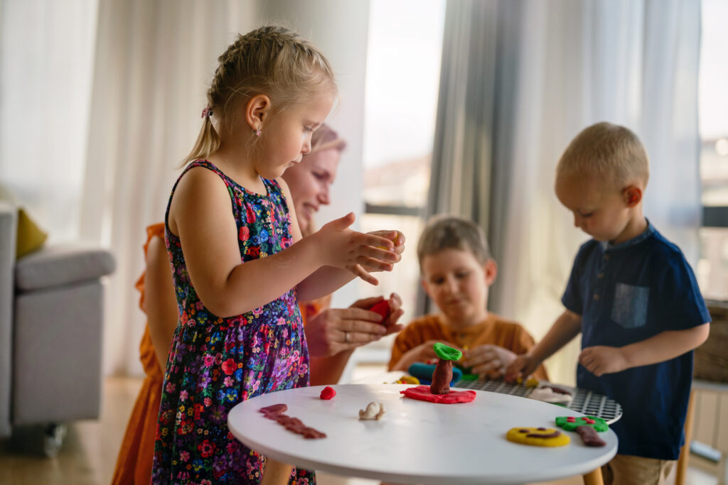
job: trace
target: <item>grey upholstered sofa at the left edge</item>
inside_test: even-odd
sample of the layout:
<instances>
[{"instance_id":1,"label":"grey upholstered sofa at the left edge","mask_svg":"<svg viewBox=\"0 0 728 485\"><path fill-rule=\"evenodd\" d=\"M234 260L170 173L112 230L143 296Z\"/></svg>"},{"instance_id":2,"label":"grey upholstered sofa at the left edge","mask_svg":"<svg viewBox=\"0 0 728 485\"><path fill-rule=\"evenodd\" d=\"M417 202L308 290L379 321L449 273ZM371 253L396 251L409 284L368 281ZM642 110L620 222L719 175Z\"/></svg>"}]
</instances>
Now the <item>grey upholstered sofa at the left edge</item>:
<instances>
[{"instance_id":1,"label":"grey upholstered sofa at the left edge","mask_svg":"<svg viewBox=\"0 0 728 485\"><path fill-rule=\"evenodd\" d=\"M115 268L110 252L82 243L46 244L16 261L16 226L17 209L0 201L0 438L98 418L101 277Z\"/></svg>"}]
</instances>

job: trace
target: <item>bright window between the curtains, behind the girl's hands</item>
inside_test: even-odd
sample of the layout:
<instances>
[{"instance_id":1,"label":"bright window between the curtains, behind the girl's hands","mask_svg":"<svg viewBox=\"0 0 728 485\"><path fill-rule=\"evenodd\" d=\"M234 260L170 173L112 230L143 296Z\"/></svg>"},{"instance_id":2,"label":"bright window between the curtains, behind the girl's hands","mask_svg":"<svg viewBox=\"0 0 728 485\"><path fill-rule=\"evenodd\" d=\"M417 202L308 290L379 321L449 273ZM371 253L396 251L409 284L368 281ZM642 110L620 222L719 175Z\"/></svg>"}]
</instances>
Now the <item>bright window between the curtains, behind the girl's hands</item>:
<instances>
[{"instance_id":1,"label":"bright window between the curtains, behind the girl's hands","mask_svg":"<svg viewBox=\"0 0 728 485\"><path fill-rule=\"evenodd\" d=\"M370 9L363 143L366 210L360 224L362 231L401 231L407 250L395 271L376 274L379 286L360 281L358 293L397 292L405 323L413 317L419 286L416 245L430 185L445 1L373 0ZM387 358L390 344L381 342Z\"/></svg>"}]
</instances>

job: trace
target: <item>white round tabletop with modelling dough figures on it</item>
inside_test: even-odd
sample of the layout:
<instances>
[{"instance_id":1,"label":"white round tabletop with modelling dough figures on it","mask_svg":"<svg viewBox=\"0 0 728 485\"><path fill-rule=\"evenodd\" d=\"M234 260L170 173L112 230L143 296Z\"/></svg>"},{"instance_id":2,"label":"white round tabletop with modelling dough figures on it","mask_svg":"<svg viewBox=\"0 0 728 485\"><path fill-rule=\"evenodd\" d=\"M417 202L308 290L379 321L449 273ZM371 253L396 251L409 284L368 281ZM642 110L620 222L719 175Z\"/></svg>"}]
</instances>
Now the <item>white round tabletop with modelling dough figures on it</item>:
<instances>
[{"instance_id":1,"label":"white round tabletop with modelling dough figures on it","mask_svg":"<svg viewBox=\"0 0 728 485\"><path fill-rule=\"evenodd\" d=\"M333 385L336 397L319 398L324 386L256 396L230 411L228 428L243 444L280 462L308 470L404 484L523 484L590 473L617 453L611 429L606 446L590 448L566 432L566 446L507 441L510 428L555 428L557 416L580 415L561 406L475 391L467 404L432 404L404 398L395 384ZM379 421L359 420L371 401L384 404ZM290 417L326 433L305 439L258 409L287 404ZM558 428L556 428L558 429Z\"/></svg>"}]
</instances>

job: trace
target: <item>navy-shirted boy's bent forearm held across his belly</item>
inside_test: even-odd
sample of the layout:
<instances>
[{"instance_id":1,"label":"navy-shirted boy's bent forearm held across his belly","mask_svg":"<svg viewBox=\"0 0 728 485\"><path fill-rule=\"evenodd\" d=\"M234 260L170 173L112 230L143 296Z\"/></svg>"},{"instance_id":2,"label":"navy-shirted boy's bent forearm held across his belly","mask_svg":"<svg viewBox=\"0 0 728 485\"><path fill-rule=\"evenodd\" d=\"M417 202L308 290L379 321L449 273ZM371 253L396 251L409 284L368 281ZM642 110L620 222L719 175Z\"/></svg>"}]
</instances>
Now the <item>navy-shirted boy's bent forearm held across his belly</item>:
<instances>
[{"instance_id":1,"label":"navy-shirted boy's bent forearm held across his belly","mask_svg":"<svg viewBox=\"0 0 728 485\"><path fill-rule=\"evenodd\" d=\"M587 347L579 355L579 364L596 375L621 372L632 367L649 366L669 361L699 347L708 338L710 324L687 330L668 330L654 337L624 347L596 345Z\"/></svg>"}]
</instances>

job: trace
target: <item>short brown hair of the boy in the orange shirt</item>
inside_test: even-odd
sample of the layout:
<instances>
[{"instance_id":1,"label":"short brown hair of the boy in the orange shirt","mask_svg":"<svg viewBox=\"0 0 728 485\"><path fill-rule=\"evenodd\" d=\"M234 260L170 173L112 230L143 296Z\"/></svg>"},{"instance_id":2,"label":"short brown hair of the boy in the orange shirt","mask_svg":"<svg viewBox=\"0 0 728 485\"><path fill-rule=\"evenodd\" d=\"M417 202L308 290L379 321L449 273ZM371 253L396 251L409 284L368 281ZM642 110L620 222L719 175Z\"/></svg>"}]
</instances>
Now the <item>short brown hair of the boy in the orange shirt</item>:
<instances>
[{"instance_id":1,"label":"short brown hair of the boy in the orange shirt","mask_svg":"<svg viewBox=\"0 0 728 485\"><path fill-rule=\"evenodd\" d=\"M422 260L425 256L437 254L443 249L468 251L480 264L493 259L483 229L464 217L438 215L427 222L417 244L420 269L422 270Z\"/></svg>"}]
</instances>

